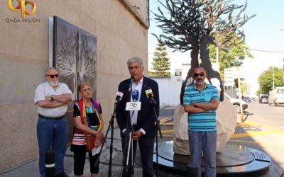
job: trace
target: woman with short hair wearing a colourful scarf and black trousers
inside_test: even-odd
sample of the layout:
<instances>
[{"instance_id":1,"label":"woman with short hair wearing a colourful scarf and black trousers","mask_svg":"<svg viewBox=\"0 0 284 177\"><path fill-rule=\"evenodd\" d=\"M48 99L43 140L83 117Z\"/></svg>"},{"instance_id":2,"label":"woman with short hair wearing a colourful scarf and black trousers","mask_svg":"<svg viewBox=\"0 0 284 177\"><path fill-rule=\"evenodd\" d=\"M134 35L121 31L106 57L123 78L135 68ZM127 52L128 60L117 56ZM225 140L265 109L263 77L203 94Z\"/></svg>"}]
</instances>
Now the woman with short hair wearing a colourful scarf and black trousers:
<instances>
[{"instance_id":1,"label":"woman with short hair wearing a colourful scarf and black trousers","mask_svg":"<svg viewBox=\"0 0 284 177\"><path fill-rule=\"evenodd\" d=\"M99 147L104 135L104 121L102 117L102 107L99 102L92 99L92 89L89 84L83 82L78 87L81 99L74 105L75 130L73 134L71 151L74 152L74 174L83 176L84 163L87 152L86 137L94 135L94 147ZM99 173L99 163L94 166L99 154L92 155L89 152L89 166L92 177L97 177Z\"/></svg>"}]
</instances>

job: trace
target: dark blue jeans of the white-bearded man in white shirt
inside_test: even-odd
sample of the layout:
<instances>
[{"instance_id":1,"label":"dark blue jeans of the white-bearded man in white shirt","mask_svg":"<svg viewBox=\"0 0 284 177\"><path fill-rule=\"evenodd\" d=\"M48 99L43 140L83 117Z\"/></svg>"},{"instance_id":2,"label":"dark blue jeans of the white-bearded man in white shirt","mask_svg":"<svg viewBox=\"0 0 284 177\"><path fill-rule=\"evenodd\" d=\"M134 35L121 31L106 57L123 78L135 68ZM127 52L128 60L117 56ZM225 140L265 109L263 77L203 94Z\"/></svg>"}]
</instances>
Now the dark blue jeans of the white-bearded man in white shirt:
<instances>
[{"instance_id":1,"label":"dark blue jeans of the white-bearded man in white shirt","mask_svg":"<svg viewBox=\"0 0 284 177\"><path fill-rule=\"evenodd\" d=\"M55 175L64 171L64 156L67 144L67 118L62 120L49 120L38 118L37 125L39 168L40 176L45 177L45 152L51 149L55 151Z\"/></svg>"}]
</instances>

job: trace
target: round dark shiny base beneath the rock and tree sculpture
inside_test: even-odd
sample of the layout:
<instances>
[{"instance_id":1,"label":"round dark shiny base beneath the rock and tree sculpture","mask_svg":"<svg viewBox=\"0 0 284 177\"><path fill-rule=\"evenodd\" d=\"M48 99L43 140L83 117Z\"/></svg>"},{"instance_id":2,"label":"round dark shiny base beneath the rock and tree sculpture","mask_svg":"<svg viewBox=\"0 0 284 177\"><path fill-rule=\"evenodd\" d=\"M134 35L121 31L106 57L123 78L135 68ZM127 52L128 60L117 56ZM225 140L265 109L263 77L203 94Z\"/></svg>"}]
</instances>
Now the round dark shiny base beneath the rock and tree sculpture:
<instances>
[{"instance_id":1,"label":"round dark shiny base beneath the rock and tree sculpture","mask_svg":"<svg viewBox=\"0 0 284 177\"><path fill-rule=\"evenodd\" d=\"M228 144L216 154L217 176L261 176L269 171L271 158L264 152ZM204 159L202 159L202 173L204 173ZM160 168L177 173L187 173L190 156L175 154L173 141L158 143L158 165ZM153 162L156 164L154 152Z\"/></svg>"}]
</instances>

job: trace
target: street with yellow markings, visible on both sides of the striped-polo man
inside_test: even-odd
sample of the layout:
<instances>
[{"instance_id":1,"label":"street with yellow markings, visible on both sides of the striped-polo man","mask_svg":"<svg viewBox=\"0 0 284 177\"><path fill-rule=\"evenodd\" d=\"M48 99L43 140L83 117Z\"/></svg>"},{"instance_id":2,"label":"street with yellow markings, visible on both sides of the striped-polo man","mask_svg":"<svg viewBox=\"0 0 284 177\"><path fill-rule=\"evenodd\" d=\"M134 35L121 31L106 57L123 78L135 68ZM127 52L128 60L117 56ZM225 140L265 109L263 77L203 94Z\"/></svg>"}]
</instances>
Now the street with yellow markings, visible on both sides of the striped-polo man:
<instances>
[{"instance_id":1,"label":"street with yellow markings, visible on both sides of the striped-polo man","mask_svg":"<svg viewBox=\"0 0 284 177\"><path fill-rule=\"evenodd\" d=\"M284 106L271 106L253 101L244 111L244 122L238 114L236 132L228 143L240 144L268 154L275 164L284 169ZM161 109L160 125L163 139L173 140L174 108ZM167 117L168 116L168 117ZM168 120L168 121L167 121Z\"/></svg>"}]
</instances>

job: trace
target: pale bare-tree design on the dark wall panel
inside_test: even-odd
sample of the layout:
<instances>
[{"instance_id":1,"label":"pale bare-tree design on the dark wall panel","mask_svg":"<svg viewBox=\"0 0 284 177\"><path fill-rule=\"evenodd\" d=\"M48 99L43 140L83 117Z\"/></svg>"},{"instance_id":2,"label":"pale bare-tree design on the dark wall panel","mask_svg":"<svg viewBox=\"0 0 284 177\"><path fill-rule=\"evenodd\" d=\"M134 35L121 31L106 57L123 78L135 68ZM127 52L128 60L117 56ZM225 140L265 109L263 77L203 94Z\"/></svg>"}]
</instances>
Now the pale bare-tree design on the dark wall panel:
<instances>
[{"instance_id":1,"label":"pale bare-tree design on the dark wall panel","mask_svg":"<svg viewBox=\"0 0 284 177\"><path fill-rule=\"evenodd\" d=\"M72 93L76 93L77 84L87 79L92 79L96 70L96 53L89 44L87 34L75 30L68 38L60 43L58 50L58 70L62 77L70 77L73 86ZM73 100L79 98L73 94ZM75 98L77 97L77 98Z\"/></svg>"}]
</instances>

